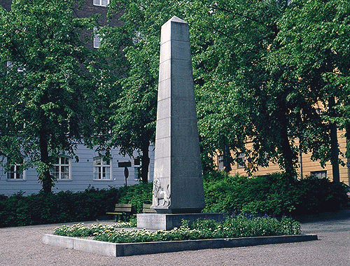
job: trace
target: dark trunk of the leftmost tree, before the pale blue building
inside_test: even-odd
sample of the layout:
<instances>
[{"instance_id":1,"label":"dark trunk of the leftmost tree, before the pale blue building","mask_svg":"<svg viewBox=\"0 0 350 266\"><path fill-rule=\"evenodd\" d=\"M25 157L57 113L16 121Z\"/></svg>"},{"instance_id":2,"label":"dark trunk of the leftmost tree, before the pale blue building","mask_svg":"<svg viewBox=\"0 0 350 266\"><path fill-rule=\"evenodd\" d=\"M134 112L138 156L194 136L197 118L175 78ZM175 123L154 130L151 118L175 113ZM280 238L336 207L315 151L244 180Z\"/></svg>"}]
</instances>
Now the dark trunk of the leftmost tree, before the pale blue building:
<instances>
[{"instance_id":1,"label":"dark trunk of the leftmost tree, before the pale blue building","mask_svg":"<svg viewBox=\"0 0 350 266\"><path fill-rule=\"evenodd\" d=\"M38 176L43 185L43 193L51 193L51 188L54 186L52 176L50 174L50 160L48 156L48 140L45 136L45 132L41 131L39 134L40 141L40 160L43 163L41 167L38 167Z\"/></svg>"}]
</instances>

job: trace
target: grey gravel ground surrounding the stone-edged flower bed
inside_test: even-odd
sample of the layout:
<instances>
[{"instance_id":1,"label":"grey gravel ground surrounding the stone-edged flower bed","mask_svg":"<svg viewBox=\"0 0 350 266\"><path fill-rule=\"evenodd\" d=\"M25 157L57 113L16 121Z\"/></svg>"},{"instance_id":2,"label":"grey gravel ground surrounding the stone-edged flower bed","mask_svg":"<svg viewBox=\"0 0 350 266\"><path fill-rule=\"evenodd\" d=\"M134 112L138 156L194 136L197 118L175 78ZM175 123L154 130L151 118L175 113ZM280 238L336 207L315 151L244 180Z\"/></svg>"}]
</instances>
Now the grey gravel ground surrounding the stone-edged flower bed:
<instances>
[{"instance_id":1,"label":"grey gravel ground surrounding the stone-edged flower bed","mask_svg":"<svg viewBox=\"0 0 350 266\"><path fill-rule=\"evenodd\" d=\"M90 225L94 222L86 222ZM113 221L102 222L111 224ZM0 228L0 266L19 265L342 265L350 266L350 211L303 217L302 232L317 241L106 257L42 244L59 225Z\"/></svg>"}]
</instances>

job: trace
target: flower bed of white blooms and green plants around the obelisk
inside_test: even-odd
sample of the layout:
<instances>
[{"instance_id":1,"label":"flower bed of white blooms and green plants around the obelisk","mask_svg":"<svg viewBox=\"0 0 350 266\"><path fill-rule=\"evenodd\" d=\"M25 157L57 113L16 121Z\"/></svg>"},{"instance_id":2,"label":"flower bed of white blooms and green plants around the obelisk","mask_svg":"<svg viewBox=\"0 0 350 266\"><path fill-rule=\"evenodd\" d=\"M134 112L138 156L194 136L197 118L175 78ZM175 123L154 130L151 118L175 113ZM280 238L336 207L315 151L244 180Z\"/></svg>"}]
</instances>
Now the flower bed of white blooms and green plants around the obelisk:
<instances>
[{"instance_id":1,"label":"flower bed of white blooms and green plants around the obelisk","mask_svg":"<svg viewBox=\"0 0 350 266\"><path fill-rule=\"evenodd\" d=\"M301 234L300 223L291 218L283 216L279 221L270 216L253 217L243 214L227 217L223 223L216 223L212 220L197 220L190 224L183 220L180 228L169 231L117 230L117 228L134 226L134 221L114 225L92 225L91 227L80 224L70 227L63 225L55 229L55 235L94 237L94 240L113 243L137 243Z\"/></svg>"}]
</instances>

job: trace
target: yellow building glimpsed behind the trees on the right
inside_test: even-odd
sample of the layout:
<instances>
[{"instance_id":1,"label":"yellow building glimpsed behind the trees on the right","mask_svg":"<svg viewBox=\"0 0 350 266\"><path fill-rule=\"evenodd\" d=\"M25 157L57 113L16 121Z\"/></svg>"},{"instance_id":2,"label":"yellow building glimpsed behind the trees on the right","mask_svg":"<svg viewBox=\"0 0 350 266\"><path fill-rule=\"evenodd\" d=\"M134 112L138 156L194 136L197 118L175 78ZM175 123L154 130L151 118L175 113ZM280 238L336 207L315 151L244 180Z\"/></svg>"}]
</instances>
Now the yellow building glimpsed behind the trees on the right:
<instances>
[{"instance_id":1,"label":"yellow building glimpsed behind the trees on the right","mask_svg":"<svg viewBox=\"0 0 350 266\"><path fill-rule=\"evenodd\" d=\"M344 131L338 131L338 144L339 149L342 154L345 154L346 152L346 138L344 137ZM296 141L296 145L298 145ZM244 160L244 165L239 165L237 162L235 165L231 165L231 171L229 174L235 175L240 174L242 176L246 176L246 167L248 167L248 160L241 156L242 160ZM344 158L342 155L339 155L339 159L344 162L344 166L339 165L339 176L340 176L340 182L346 183L349 185L349 169L346 167L346 162L350 162L350 160ZM216 156L214 158L216 160L216 165L218 165L218 169L223 170L223 156ZM276 172L281 172L281 169L276 164L269 164L269 167L260 167L257 172L254 172L254 176L264 176L267 174L272 174ZM302 179L306 176L318 176L319 178L328 178L332 181L332 165L330 165L330 162L328 162L325 167L321 167L319 161L312 161L311 160L311 153L301 153L299 157L299 164L297 169L298 178Z\"/></svg>"}]
</instances>

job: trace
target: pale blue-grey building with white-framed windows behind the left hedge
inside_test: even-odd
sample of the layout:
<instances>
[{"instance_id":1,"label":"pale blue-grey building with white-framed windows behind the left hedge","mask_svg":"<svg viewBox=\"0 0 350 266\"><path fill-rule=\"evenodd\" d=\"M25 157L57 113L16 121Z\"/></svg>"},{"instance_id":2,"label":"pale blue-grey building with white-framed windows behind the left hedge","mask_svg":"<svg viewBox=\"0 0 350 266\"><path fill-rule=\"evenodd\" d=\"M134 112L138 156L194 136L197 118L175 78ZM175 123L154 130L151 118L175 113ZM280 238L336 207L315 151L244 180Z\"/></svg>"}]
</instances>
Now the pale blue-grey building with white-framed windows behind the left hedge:
<instances>
[{"instance_id":1,"label":"pale blue-grey building with white-framed windows behind the left hedge","mask_svg":"<svg viewBox=\"0 0 350 266\"><path fill-rule=\"evenodd\" d=\"M150 146L151 163L148 172L148 181L153 181L153 162L154 152ZM124 167L120 167L120 162L130 162L127 167L129 177L127 185L139 183L138 169L141 166L139 160L130 157L123 157L118 154L118 149L111 151L111 160L102 160L99 154L78 145L76 150L79 162L69 156L62 155L57 164L52 169L51 174L57 178L52 192L71 190L73 192L82 191L86 188L109 188L125 186ZM137 153L134 153L137 156ZM9 172L5 171L6 160L0 165L0 195L13 195L20 191L25 195L38 193L41 190L41 183L38 181L38 173L34 167L25 170L22 173L16 173L16 167L12 167ZM123 165L123 164L121 164Z\"/></svg>"}]
</instances>

